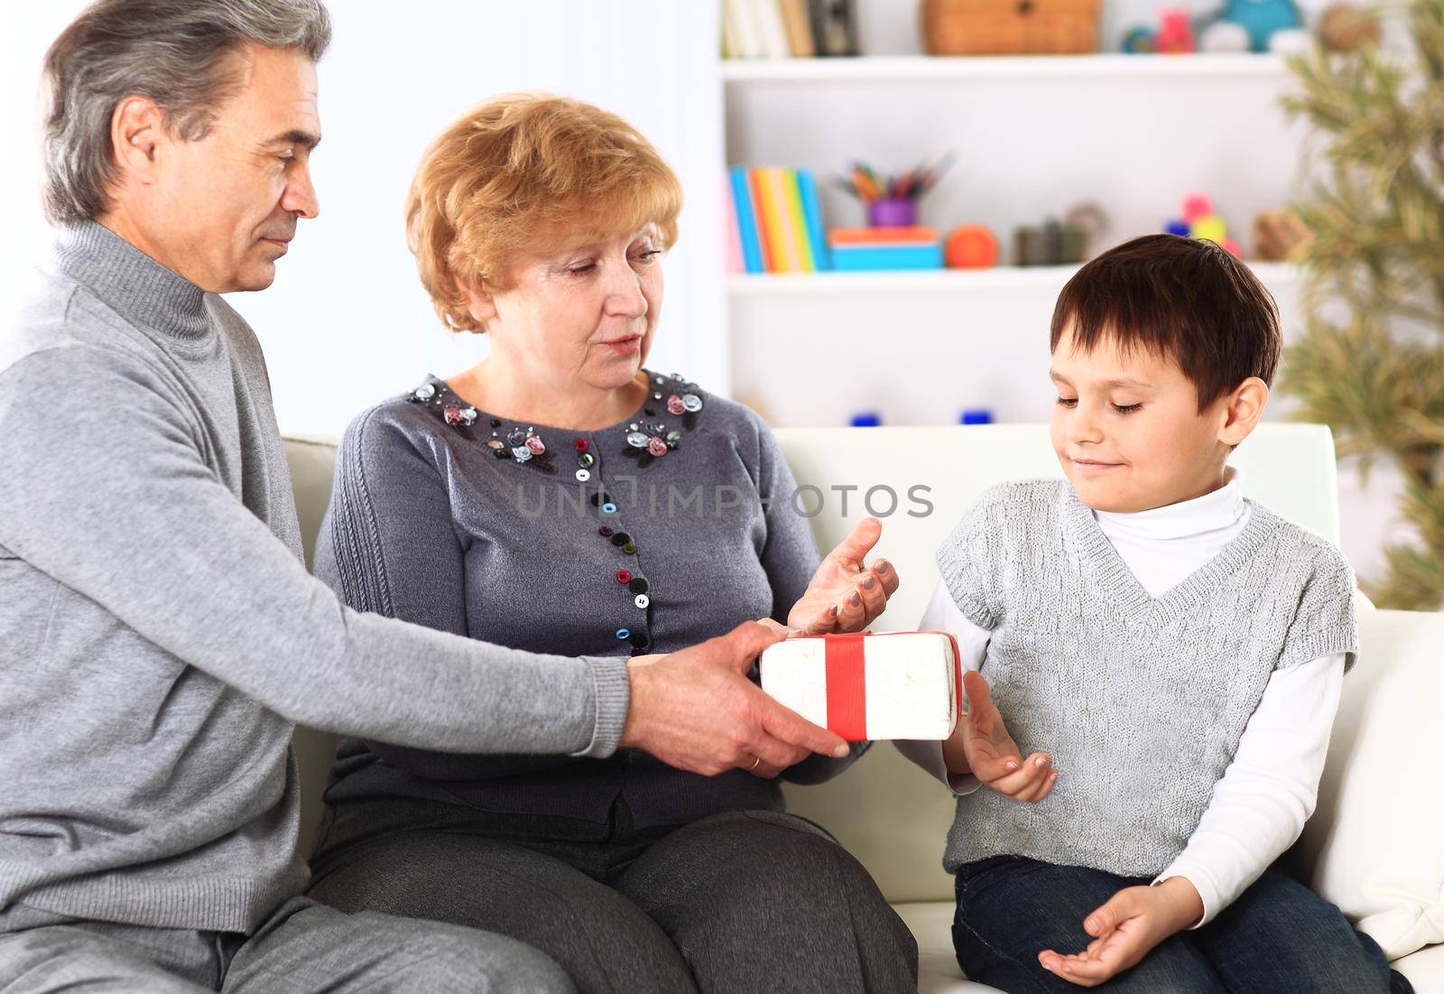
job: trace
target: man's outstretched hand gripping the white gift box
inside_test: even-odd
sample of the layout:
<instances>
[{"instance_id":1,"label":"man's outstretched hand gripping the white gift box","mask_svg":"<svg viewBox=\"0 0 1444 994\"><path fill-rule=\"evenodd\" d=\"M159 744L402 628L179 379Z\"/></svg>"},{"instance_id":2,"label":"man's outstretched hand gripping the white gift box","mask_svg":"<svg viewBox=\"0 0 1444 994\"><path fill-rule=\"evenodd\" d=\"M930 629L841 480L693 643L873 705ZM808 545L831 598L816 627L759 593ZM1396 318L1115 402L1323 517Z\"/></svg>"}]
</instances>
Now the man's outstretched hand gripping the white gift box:
<instances>
[{"instance_id":1,"label":"man's outstretched hand gripping the white gift box","mask_svg":"<svg viewBox=\"0 0 1444 994\"><path fill-rule=\"evenodd\" d=\"M744 621L699 646L631 660L619 744L705 776L739 767L774 777L812 753L842 759L848 743L747 679L752 660L786 634L781 626Z\"/></svg>"}]
</instances>

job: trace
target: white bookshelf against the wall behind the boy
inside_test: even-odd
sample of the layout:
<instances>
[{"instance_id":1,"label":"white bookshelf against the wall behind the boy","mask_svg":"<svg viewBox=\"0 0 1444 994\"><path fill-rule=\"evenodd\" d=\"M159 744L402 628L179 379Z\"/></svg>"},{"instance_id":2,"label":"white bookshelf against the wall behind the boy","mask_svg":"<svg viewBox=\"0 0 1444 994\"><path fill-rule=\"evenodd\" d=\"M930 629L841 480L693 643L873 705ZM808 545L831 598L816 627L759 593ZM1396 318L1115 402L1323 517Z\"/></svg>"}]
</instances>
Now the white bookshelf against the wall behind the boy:
<instances>
[{"instance_id":1,"label":"white bookshelf against the wall behind the boy","mask_svg":"<svg viewBox=\"0 0 1444 994\"><path fill-rule=\"evenodd\" d=\"M882 23L907 13L892 4L864 10L872 30L908 30ZM827 227L864 222L830 179L849 162L901 172L954 152L920 222L944 235L983 224L1002 248L989 270L728 277L732 392L778 426L840 425L859 410L952 423L963 407L1044 420L1048 319L1077 267L1011 264L1018 225L1095 202L1110 220L1100 250L1162 230L1187 194L1204 192L1248 253L1253 217L1300 186L1302 126L1278 105L1291 77L1274 55L895 52L723 61L721 75L726 162L812 169ZM1295 273L1255 272L1291 337Z\"/></svg>"}]
</instances>

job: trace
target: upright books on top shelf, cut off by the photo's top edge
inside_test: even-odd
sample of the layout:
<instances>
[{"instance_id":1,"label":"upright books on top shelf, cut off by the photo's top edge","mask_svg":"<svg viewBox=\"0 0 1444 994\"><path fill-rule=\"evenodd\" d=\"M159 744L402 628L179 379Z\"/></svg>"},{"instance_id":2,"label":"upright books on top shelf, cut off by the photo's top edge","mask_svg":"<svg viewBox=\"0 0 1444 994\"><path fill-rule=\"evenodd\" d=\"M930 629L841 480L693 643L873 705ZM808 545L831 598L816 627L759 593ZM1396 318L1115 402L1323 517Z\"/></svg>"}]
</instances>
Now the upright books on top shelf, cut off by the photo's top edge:
<instances>
[{"instance_id":1,"label":"upright books on top shelf, cut off by the photo's top edge","mask_svg":"<svg viewBox=\"0 0 1444 994\"><path fill-rule=\"evenodd\" d=\"M852 0L722 0L723 58L856 53Z\"/></svg>"}]
</instances>

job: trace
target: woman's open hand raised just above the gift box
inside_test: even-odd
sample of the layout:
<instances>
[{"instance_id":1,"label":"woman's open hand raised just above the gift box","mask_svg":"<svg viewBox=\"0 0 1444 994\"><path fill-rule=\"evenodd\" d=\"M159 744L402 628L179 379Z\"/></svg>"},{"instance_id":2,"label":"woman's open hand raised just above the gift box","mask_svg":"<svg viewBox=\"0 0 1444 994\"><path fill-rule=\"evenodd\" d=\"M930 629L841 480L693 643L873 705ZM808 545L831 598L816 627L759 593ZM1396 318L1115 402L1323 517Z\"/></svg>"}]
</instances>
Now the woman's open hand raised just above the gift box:
<instances>
[{"instance_id":1,"label":"woman's open hand raised just above the gift box","mask_svg":"<svg viewBox=\"0 0 1444 994\"><path fill-rule=\"evenodd\" d=\"M862 568L862 559L882 536L882 523L865 517L817 566L801 600L793 604L787 624L801 634L862 631L888 605L898 588L897 571L887 559Z\"/></svg>"}]
</instances>

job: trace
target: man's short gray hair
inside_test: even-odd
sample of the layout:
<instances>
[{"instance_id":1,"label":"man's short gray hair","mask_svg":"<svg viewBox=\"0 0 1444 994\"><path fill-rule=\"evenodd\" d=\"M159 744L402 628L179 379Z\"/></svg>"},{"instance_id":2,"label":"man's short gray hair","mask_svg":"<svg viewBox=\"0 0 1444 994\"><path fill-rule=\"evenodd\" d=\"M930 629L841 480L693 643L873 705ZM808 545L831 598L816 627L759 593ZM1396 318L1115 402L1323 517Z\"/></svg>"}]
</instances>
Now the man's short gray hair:
<instances>
[{"instance_id":1,"label":"man's short gray hair","mask_svg":"<svg viewBox=\"0 0 1444 994\"><path fill-rule=\"evenodd\" d=\"M149 97L185 142L205 137L240 82L243 45L297 49L319 61L331 43L321 0L98 0L45 53L45 214L95 220L117 179L110 123L126 97Z\"/></svg>"}]
</instances>

